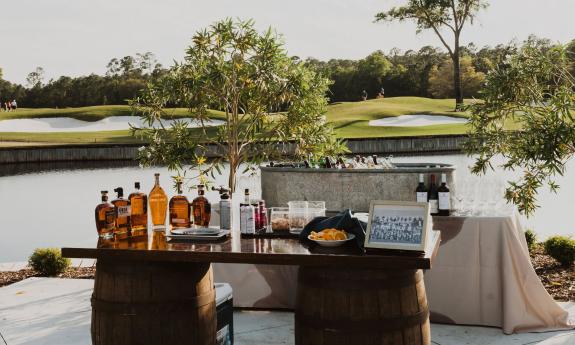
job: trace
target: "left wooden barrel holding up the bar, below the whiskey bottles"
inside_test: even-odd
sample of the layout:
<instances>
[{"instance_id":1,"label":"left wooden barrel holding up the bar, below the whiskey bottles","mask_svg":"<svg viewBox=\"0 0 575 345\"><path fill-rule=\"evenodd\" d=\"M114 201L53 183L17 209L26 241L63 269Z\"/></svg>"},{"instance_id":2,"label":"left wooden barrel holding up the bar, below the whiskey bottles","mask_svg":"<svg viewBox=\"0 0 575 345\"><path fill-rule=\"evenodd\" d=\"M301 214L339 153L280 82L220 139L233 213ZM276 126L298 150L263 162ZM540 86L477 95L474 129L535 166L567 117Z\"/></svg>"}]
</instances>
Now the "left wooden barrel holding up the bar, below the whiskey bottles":
<instances>
[{"instance_id":1,"label":"left wooden barrel holding up the bar, below the whiskey bottles","mask_svg":"<svg viewBox=\"0 0 575 345\"><path fill-rule=\"evenodd\" d=\"M215 313L209 263L98 260L94 345L213 345Z\"/></svg>"}]
</instances>

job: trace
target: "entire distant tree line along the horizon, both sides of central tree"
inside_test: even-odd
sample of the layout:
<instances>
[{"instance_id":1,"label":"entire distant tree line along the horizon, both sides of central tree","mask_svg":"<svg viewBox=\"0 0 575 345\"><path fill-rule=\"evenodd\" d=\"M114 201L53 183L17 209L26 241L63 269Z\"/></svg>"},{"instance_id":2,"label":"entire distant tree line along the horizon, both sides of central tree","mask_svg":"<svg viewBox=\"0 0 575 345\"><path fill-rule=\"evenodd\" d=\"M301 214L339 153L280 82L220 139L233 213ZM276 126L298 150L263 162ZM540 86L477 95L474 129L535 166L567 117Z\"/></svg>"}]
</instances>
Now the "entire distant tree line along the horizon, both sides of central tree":
<instances>
[{"instance_id":1,"label":"entire distant tree line along the horizon, both sides of central tree","mask_svg":"<svg viewBox=\"0 0 575 345\"><path fill-rule=\"evenodd\" d=\"M542 50L556 45L534 36L527 41ZM495 47L478 48L474 44L461 47L463 96L477 97L486 74L504 63L520 46L509 43ZM575 40L567 45L567 51L575 74ZM382 88L385 97L453 98L454 95L452 59L448 53L432 46L418 51L392 49L385 53L378 50L359 60L308 58L304 62L333 81L327 94L331 102L358 101L363 90L368 98L376 98ZM26 86L3 80L0 70L0 99L16 99L21 107L27 108L127 104L148 82L167 71L149 52L110 60L103 76L62 76L44 82L44 71L37 68L28 75Z\"/></svg>"}]
</instances>

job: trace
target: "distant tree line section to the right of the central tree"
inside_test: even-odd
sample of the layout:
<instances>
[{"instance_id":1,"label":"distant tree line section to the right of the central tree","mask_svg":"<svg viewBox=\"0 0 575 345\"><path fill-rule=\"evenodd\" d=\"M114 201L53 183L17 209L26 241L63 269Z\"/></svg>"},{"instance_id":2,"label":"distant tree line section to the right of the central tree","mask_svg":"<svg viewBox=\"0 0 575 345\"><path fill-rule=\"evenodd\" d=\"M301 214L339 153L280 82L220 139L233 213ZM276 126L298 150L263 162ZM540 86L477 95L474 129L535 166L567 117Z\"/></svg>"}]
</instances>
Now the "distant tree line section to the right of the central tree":
<instances>
[{"instance_id":1,"label":"distant tree line section to the right of the central tree","mask_svg":"<svg viewBox=\"0 0 575 345\"><path fill-rule=\"evenodd\" d=\"M555 44L547 39L530 37L541 49ZM526 43L526 42L524 42ZM505 62L520 44L500 44L477 48L474 44L461 47L461 76L463 96L477 97L485 75ZM568 45L572 66L575 66L575 40ZM420 96L453 98L453 65L447 53L436 47L425 46L418 51L402 52L392 49L388 53L376 51L360 60L332 59L320 61L309 58L306 63L333 80L329 98L331 102L357 101L362 90L375 98L383 88L386 97ZM575 67L573 67L575 72Z\"/></svg>"}]
</instances>

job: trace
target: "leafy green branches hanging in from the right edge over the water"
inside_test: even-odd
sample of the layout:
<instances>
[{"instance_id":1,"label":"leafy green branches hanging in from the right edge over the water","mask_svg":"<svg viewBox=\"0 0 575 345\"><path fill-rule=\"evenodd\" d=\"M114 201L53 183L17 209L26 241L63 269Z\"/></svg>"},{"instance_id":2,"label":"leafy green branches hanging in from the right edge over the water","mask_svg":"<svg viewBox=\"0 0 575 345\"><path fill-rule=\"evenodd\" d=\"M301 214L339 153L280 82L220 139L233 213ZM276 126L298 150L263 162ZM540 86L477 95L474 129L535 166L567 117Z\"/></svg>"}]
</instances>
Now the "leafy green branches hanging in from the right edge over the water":
<instances>
[{"instance_id":1,"label":"leafy green branches hanging in from the right edge over the water","mask_svg":"<svg viewBox=\"0 0 575 345\"><path fill-rule=\"evenodd\" d=\"M523 171L505 197L527 215L537 208L539 188L546 184L557 191L554 177L563 175L575 154L574 90L566 48L529 40L487 74L482 101L469 107L466 148L477 155L472 172L493 168L497 155L504 169Z\"/></svg>"}]
</instances>

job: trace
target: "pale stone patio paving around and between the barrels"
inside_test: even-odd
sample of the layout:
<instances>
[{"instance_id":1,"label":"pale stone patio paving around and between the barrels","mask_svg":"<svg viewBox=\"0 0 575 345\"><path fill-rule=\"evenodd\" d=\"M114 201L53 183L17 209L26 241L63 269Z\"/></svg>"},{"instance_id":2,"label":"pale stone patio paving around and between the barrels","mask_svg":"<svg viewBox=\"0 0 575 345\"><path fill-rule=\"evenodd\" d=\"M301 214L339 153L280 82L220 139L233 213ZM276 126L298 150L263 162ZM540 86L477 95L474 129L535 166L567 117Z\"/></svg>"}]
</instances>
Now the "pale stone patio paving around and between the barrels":
<instances>
[{"instance_id":1,"label":"pale stone patio paving around and between the barrels","mask_svg":"<svg viewBox=\"0 0 575 345\"><path fill-rule=\"evenodd\" d=\"M90 344L93 280L29 278L0 288L0 345ZM571 303L573 305L573 303ZM290 312L234 312L235 344L293 344ZM504 335L498 328L431 325L437 345L574 345L575 331Z\"/></svg>"}]
</instances>

